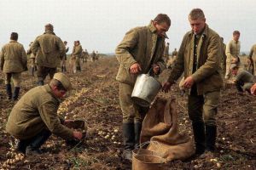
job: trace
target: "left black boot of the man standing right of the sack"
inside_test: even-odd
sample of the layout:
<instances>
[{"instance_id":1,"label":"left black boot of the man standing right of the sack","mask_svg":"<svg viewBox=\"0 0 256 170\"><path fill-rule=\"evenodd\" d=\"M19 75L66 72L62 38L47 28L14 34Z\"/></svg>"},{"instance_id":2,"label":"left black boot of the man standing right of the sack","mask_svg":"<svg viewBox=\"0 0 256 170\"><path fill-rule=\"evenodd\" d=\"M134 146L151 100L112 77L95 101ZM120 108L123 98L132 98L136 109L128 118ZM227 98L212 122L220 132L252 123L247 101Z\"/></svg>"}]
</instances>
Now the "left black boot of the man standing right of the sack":
<instances>
[{"instance_id":1,"label":"left black boot of the man standing right of the sack","mask_svg":"<svg viewBox=\"0 0 256 170\"><path fill-rule=\"evenodd\" d=\"M204 122L192 122L194 139L195 139L195 156L200 156L206 149L206 135Z\"/></svg>"}]
</instances>

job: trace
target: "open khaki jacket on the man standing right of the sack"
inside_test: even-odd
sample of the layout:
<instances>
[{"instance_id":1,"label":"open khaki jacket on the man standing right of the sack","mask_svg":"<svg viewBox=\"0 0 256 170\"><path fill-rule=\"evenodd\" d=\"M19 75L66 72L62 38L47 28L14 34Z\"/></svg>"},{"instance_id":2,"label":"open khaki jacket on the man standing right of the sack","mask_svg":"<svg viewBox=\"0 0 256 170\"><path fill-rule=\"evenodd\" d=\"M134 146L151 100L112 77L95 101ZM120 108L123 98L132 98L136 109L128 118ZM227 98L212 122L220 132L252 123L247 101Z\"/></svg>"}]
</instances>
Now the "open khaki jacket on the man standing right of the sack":
<instances>
[{"instance_id":1,"label":"open khaki jacket on the man standing right of the sack","mask_svg":"<svg viewBox=\"0 0 256 170\"><path fill-rule=\"evenodd\" d=\"M224 84L220 37L206 25L198 42L197 68L193 73L194 41L193 31L189 31L183 37L168 82L175 82L184 72L185 78L192 76L199 95L219 90Z\"/></svg>"}]
</instances>

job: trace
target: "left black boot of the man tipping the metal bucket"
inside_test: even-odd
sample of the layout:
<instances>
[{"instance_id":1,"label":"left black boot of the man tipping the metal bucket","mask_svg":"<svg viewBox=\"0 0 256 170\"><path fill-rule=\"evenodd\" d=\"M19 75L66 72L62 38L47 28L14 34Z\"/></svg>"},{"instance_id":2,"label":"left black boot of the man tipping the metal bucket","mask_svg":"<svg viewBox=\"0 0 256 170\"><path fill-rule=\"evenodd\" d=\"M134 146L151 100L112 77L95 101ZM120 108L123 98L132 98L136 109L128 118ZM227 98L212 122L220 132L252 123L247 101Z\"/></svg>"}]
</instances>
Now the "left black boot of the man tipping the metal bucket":
<instances>
[{"instance_id":1,"label":"left black boot of the man tipping the metal bucket","mask_svg":"<svg viewBox=\"0 0 256 170\"><path fill-rule=\"evenodd\" d=\"M124 138L124 145L125 145L123 158L125 160L131 161L132 150L134 149L134 139L135 139L133 122L123 123L123 138Z\"/></svg>"}]
</instances>

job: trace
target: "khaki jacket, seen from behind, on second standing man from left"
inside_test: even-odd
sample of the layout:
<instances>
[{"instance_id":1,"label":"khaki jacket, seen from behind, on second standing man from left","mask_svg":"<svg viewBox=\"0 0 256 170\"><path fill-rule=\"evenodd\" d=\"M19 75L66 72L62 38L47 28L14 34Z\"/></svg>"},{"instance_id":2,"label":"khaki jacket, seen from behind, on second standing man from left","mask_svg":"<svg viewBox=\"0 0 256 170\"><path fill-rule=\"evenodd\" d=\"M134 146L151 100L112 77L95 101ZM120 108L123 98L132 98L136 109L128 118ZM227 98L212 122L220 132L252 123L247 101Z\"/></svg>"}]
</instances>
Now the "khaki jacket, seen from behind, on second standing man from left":
<instances>
[{"instance_id":1,"label":"khaki jacket, seen from behind, on second standing man from left","mask_svg":"<svg viewBox=\"0 0 256 170\"><path fill-rule=\"evenodd\" d=\"M54 32L45 31L32 43L32 53L36 55L39 66L55 68L60 65L61 57L65 56L65 45Z\"/></svg>"}]
</instances>

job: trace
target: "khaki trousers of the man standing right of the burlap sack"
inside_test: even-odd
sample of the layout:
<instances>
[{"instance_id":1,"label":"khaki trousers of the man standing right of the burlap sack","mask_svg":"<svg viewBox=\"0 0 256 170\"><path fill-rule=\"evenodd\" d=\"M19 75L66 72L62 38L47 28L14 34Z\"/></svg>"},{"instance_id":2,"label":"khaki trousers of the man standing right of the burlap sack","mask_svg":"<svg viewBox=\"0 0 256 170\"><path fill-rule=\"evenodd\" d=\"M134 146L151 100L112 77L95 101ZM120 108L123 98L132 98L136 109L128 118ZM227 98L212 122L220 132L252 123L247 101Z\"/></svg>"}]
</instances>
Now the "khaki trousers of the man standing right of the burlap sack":
<instances>
[{"instance_id":1,"label":"khaki trousers of the man standing right of the burlap sack","mask_svg":"<svg viewBox=\"0 0 256 170\"><path fill-rule=\"evenodd\" d=\"M207 126L216 126L220 90L197 95L193 87L188 99L189 119L192 122L205 122Z\"/></svg>"}]
</instances>

